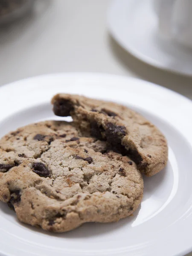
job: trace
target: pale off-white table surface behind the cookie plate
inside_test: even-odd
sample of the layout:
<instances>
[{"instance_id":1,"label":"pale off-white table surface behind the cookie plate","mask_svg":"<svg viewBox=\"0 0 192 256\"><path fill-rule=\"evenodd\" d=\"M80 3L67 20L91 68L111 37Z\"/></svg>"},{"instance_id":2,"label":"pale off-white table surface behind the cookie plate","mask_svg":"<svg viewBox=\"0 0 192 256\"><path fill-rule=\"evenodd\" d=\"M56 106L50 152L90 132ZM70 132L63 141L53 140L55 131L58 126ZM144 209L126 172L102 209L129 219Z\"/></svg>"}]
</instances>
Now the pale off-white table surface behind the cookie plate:
<instances>
[{"instance_id":1,"label":"pale off-white table surface behind the cookie plate","mask_svg":"<svg viewBox=\"0 0 192 256\"><path fill-rule=\"evenodd\" d=\"M116 44L106 27L110 2L37 0L29 17L0 28L0 85L46 73L102 72L138 77L192 99L192 78L144 64Z\"/></svg>"}]
</instances>

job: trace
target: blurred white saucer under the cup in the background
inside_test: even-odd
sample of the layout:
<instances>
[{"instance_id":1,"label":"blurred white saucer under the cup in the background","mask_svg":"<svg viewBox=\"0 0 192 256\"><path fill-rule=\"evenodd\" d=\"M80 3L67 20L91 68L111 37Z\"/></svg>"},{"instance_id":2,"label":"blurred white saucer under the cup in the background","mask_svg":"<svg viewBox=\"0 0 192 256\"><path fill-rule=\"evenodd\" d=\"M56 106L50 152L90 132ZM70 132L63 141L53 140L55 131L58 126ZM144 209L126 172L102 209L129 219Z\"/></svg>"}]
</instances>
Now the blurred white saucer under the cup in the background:
<instances>
[{"instance_id":1,"label":"blurred white saucer under the cup in the background","mask_svg":"<svg viewBox=\"0 0 192 256\"><path fill-rule=\"evenodd\" d=\"M152 0L113 0L108 27L116 41L140 60L192 76L192 50L159 38Z\"/></svg>"}]
</instances>

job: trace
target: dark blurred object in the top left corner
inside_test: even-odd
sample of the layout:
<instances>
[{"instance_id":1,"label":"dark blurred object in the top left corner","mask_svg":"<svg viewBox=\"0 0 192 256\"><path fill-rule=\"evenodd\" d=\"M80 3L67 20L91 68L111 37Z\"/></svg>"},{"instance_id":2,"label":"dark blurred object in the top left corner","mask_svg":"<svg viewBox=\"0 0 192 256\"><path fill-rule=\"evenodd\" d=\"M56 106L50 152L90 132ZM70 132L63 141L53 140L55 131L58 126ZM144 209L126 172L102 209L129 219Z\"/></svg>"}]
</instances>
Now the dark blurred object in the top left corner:
<instances>
[{"instance_id":1,"label":"dark blurred object in the top left corner","mask_svg":"<svg viewBox=\"0 0 192 256\"><path fill-rule=\"evenodd\" d=\"M35 0L0 0L0 25L23 17L32 9Z\"/></svg>"}]
</instances>

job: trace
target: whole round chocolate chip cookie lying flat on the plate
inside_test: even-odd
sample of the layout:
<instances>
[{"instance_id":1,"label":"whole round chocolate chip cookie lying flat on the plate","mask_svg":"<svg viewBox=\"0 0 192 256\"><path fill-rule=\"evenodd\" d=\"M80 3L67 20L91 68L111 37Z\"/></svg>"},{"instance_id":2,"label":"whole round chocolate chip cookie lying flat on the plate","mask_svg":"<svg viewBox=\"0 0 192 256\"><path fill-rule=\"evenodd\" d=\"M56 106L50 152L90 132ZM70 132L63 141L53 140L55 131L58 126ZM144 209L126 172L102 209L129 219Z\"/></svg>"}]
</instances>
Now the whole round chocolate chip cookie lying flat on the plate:
<instances>
[{"instance_id":1,"label":"whole round chocolate chip cookie lying flat on the plate","mask_svg":"<svg viewBox=\"0 0 192 256\"><path fill-rule=\"evenodd\" d=\"M73 123L27 125L0 140L0 200L21 222L64 232L118 221L142 197L136 164L104 141L80 137Z\"/></svg>"}]
</instances>

